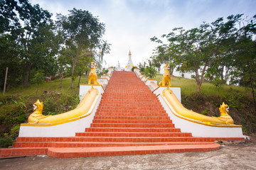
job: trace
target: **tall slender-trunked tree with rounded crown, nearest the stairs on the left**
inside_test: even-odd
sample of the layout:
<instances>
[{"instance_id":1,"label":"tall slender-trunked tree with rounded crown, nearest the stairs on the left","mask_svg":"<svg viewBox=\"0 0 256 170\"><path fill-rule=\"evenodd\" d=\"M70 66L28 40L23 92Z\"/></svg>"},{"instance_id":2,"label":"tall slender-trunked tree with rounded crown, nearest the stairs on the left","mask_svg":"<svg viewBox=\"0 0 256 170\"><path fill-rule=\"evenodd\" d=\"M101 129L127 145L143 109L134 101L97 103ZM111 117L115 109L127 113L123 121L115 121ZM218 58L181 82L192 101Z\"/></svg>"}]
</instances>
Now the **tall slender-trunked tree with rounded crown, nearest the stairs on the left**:
<instances>
[{"instance_id":1,"label":"tall slender-trunked tree with rounded crown, nearest the stairs on the left","mask_svg":"<svg viewBox=\"0 0 256 170\"><path fill-rule=\"evenodd\" d=\"M63 33L65 46L70 49L72 61L71 87L74 87L75 67L82 49L95 49L101 44L102 35L105 33L105 25L99 19L92 16L89 11L82 11L76 8L70 10L68 16L58 14L58 28Z\"/></svg>"}]
</instances>

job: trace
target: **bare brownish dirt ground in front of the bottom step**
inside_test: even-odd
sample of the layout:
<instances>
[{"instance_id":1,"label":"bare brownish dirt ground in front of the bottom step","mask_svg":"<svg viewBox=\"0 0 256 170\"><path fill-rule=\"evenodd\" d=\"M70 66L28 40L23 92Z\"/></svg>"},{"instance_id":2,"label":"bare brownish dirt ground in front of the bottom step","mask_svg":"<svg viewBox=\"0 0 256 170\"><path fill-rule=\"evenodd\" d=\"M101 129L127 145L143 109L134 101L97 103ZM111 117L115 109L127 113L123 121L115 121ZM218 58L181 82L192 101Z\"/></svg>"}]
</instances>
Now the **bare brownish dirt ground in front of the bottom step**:
<instances>
[{"instance_id":1,"label":"bare brownish dirt ground in front of the bottom step","mask_svg":"<svg viewBox=\"0 0 256 170\"><path fill-rule=\"evenodd\" d=\"M256 169L255 137L224 142L210 152L57 159L46 155L0 159L0 169Z\"/></svg>"}]
</instances>

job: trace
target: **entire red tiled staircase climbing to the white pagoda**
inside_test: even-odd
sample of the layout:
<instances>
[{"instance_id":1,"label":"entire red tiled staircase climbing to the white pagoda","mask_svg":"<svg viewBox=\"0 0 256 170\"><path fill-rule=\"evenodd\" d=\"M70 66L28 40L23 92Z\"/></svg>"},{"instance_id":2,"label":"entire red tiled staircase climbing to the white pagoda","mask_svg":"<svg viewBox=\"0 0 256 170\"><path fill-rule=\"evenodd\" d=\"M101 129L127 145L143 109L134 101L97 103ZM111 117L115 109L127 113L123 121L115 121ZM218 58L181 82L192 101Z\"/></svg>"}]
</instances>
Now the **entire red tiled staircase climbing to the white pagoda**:
<instances>
[{"instance_id":1,"label":"entire red tiled staircase climbing to the white pagoda","mask_svg":"<svg viewBox=\"0 0 256 170\"><path fill-rule=\"evenodd\" d=\"M134 72L114 72L90 128L75 137L18 137L0 157L48 154L98 157L218 149L215 138L175 128L158 98ZM232 140L232 139L230 139Z\"/></svg>"}]
</instances>

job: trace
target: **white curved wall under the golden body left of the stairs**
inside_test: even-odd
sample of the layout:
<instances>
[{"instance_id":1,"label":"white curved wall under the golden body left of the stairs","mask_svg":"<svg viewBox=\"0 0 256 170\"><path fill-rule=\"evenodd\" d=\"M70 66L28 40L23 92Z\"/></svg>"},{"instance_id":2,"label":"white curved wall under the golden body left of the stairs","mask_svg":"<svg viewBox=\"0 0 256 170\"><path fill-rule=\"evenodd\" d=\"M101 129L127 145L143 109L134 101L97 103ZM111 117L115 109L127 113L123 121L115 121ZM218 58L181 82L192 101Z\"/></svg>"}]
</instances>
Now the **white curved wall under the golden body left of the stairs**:
<instances>
[{"instance_id":1,"label":"white curved wall under the golden body left of the stairs","mask_svg":"<svg viewBox=\"0 0 256 170\"><path fill-rule=\"evenodd\" d=\"M18 137L69 137L75 136L75 132L85 132L85 128L90 128L101 98L102 95L98 94L94 103L92 103L92 107L87 112L92 113L85 118L53 126L21 126Z\"/></svg>"}]
</instances>

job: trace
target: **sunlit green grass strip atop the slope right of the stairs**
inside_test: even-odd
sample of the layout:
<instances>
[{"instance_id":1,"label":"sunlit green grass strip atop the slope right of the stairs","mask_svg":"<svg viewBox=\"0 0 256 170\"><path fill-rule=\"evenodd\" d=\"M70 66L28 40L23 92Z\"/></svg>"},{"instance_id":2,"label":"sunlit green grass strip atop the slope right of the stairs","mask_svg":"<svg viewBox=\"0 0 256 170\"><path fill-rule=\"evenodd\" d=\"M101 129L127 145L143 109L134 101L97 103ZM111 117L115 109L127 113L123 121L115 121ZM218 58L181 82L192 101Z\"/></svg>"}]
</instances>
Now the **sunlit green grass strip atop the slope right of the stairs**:
<instances>
[{"instance_id":1,"label":"sunlit green grass strip atop the slope right of the stairs","mask_svg":"<svg viewBox=\"0 0 256 170\"><path fill-rule=\"evenodd\" d=\"M162 79L162 74L157 74L154 79L159 83ZM171 86L181 86L181 94L186 96L196 93L196 80L194 79L171 77ZM245 87L233 85L221 85L216 87L207 82L203 82L201 93L206 94L206 96L228 96L233 95L233 93L242 93L245 96L252 98L250 89Z\"/></svg>"}]
</instances>

